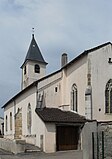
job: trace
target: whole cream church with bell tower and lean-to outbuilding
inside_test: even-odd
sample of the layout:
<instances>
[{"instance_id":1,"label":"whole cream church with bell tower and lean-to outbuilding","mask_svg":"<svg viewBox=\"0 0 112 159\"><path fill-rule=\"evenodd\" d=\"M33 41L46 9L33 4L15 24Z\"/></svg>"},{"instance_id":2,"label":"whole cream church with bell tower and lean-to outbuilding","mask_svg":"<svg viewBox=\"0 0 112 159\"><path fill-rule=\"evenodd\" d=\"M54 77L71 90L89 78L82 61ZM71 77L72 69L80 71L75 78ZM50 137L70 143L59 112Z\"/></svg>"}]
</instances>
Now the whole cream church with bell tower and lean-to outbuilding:
<instances>
[{"instance_id":1,"label":"whole cream church with bell tower and lean-to outbuilding","mask_svg":"<svg viewBox=\"0 0 112 159\"><path fill-rule=\"evenodd\" d=\"M112 121L112 44L85 50L70 62L63 53L61 68L49 75L47 64L32 34L21 91L2 107L4 138L44 152L82 149L87 125Z\"/></svg>"}]
</instances>

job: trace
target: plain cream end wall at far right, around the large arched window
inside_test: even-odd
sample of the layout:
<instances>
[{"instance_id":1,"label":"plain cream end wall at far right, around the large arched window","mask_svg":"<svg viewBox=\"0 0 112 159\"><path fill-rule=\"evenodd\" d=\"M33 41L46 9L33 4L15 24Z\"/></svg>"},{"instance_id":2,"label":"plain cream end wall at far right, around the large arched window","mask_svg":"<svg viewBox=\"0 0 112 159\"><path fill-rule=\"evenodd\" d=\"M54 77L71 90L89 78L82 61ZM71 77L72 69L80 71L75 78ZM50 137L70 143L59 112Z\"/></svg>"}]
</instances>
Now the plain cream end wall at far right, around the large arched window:
<instances>
[{"instance_id":1,"label":"plain cream end wall at far right, around the large arched window","mask_svg":"<svg viewBox=\"0 0 112 159\"><path fill-rule=\"evenodd\" d=\"M92 69L93 119L112 120L111 114L105 114L105 87L109 79L112 79L112 64L108 63L109 58L112 58L111 45L89 53L89 58Z\"/></svg>"}]
</instances>

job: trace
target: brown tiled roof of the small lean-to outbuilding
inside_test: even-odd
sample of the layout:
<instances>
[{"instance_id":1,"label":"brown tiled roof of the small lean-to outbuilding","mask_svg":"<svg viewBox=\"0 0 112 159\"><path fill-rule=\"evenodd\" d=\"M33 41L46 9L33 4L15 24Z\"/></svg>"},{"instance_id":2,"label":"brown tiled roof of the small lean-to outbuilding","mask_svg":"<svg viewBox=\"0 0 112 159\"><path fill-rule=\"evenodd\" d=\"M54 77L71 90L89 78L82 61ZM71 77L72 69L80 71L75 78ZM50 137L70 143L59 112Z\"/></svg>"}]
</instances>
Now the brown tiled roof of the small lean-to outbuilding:
<instances>
[{"instance_id":1,"label":"brown tiled roof of the small lean-to outbuilding","mask_svg":"<svg viewBox=\"0 0 112 159\"><path fill-rule=\"evenodd\" d=\"M71 111L62 111L58 108L36 108L36 113L44 122L53 123L85 123L86 119Z\"/></svg>"}]
</instances>

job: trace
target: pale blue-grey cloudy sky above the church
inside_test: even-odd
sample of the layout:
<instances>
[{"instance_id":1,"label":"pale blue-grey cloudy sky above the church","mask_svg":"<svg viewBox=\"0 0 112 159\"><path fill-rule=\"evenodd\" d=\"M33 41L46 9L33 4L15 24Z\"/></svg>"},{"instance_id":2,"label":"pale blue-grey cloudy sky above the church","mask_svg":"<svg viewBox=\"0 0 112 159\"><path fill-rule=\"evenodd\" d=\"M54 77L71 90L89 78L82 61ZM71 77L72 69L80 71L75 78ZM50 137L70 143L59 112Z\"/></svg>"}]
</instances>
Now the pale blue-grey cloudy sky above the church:
<instances>
[{"instance_id":1,"label":"pale blue-grey cloudy sky above the church","mask_svg":"<svg viewBox=\"0 0 112 159\"><path fill-rule=\"evenodd\" d=\"M72 60L112 41L112 0L0 0L0 106L20 91L32 27L48 74L60 68L62 53Z\"/></svg>"}]
</instances>

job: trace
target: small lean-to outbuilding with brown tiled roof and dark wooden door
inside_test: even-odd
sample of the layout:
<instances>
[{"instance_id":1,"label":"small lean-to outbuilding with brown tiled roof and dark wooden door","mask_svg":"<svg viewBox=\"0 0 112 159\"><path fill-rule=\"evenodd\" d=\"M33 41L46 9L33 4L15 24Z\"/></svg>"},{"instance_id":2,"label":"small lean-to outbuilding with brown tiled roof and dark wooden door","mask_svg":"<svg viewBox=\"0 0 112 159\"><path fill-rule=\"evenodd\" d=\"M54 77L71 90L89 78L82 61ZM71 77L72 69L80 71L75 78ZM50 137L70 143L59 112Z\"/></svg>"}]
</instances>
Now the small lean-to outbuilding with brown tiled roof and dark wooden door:
<instances>
[{"instance_id":1,"label":"small lean-to outbuilding with brown tiled roof and dark wooden door","mask_svg":"<svg viewBox=\"0 0 112 159\"><path fill-rule=\"evenodd\" d=\"M81 129L87 121L85 117L58 108L37 108L35 111L39 117L38 124L43 125L40 138L44 151L80 149Z\"/></svg>"}]
</instances>

